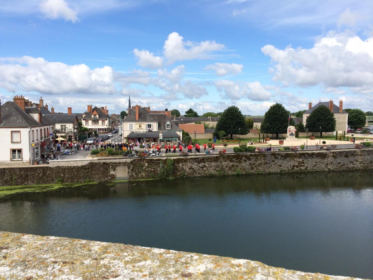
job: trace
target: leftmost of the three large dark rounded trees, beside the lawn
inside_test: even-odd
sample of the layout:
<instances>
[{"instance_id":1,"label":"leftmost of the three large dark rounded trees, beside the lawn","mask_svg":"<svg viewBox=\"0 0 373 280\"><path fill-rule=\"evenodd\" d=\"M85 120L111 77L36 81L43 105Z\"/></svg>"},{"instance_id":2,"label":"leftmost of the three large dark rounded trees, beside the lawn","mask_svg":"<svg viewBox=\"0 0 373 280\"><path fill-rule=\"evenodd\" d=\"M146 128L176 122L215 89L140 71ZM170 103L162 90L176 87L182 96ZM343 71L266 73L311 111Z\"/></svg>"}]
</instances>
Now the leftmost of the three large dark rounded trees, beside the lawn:
<instances>
[{"instance_id":1,"label":"leftmost of the three large dark rounded trees, beside the lawn","mask_svg":"<svg viewBox=\"0 0 373 280\"><path fill-rule=\"evenodd\" d=\"M220 116L215 126L214 136L219 136L219 132L223 130L227 135L231 135L232 139L233 134L239 133L238 128L241 128L241 134L248 132L245 117L240 109L237 106L229 106Z\"/></svg>"}]
</instances>

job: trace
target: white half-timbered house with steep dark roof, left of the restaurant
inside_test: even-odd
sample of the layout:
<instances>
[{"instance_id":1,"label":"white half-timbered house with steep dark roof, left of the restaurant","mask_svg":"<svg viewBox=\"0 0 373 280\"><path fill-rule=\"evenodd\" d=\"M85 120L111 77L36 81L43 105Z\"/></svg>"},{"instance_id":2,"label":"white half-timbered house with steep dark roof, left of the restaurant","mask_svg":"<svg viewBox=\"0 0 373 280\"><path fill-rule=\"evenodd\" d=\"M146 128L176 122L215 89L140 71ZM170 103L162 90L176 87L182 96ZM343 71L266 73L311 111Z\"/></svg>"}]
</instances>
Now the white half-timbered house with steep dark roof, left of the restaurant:
<instances>
[{"instance_id":1,"label":"white half-timbered house with steep dark roof, left of the restaurant","mask_svg":"<svg viewBox=\"0 0 373 280\"><path fill-rule=\"evenodd\" d=\"M97 106L92 108L92 105L88 105L87 112L84 112L82 116L82 124L89 130L97 131L97 133L109 133L114 128L106 106L105 108L98 108Z\"/></svg>"}]
</instances>

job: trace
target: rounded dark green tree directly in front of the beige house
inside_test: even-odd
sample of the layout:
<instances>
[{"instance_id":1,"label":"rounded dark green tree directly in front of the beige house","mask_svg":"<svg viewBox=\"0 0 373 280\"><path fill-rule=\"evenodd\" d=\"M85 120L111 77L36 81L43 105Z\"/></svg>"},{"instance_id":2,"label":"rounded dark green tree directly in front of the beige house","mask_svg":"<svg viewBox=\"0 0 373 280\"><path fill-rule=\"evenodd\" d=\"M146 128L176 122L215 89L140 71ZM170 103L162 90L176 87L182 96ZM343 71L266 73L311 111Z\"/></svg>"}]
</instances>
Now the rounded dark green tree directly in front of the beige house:
<instances>
[{"instance_id":1,"label":"rounded dark green tree directly in front of the beige house","mask_svg":"<svg viewBox=\"0 0 373 280\"><path fill-rule=\"evenodd\" d=\"M323 132L335 130L336 121L334 114L325 105L320 105L310 113L305 123L305 127L311 132L320 131L320 138Z\"/></svg>"}]
</instances>

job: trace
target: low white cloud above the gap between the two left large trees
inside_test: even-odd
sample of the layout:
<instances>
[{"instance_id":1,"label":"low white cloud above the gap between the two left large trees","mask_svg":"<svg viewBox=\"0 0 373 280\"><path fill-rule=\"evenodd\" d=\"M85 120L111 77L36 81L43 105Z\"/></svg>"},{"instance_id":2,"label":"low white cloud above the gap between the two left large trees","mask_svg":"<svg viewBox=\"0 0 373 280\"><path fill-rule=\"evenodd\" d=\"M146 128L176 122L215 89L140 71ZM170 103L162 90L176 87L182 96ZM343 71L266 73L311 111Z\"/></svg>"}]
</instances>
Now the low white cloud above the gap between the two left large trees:
<instances>
[{"instance_id":1,"label":"low white cloud above the gap between the two left large trees","mask_svg":"<svg viewBox=\"0 0 373 280\"><path fill-rule=\"evenodd\" d=\"M219 80L214 84L224 98L232 100L239 100L246 97L253 101L263 101L271 98L271 93L264 89L263 85L258 81L252 83L235 83L228 80Z\"/></svg>"}]
</instances>

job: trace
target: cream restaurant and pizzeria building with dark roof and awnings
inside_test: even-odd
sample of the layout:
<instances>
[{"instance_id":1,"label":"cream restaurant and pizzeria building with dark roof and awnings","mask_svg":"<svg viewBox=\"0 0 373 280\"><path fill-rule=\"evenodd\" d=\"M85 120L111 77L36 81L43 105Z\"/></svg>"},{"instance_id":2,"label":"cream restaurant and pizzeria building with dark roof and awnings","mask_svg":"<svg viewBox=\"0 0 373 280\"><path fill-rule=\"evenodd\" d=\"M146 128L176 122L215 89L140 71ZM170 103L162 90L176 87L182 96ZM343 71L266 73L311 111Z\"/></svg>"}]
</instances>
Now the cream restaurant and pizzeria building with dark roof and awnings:
<instances>
[{"instance_id":1,"label":"cream restaurant and pizzeria building with dark roof and awnings","mask_svg":"<svg viewBox=\"0 0 373 280\"><path fill-rule=\"evenodd\" d=\"M131 106L129 104L129 106ZM122 121L122 137L128 142L178 143L182 141L182 129L171 118L171 111L151 111L139 105L127 109Z\"/></svg>"}]
</instances>

